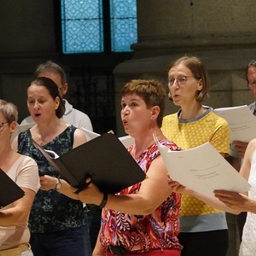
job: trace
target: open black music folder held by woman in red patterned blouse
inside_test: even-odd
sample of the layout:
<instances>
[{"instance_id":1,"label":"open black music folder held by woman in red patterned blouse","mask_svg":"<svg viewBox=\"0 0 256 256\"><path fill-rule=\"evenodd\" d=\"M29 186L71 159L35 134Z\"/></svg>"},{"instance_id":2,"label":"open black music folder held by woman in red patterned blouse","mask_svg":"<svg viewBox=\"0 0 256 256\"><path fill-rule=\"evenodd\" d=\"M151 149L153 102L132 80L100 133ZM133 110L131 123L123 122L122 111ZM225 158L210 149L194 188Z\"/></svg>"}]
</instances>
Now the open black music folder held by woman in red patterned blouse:
<instances>
[{"instance_id":1,"label":"open black music folder held by woman in red patterned blouse","mask_svg":"<svg viewBox=\"0 0 256 256\"><path fill-rule=\"evenodd\" d=\"M61 156L33 143L61 177L78 190L87 186L87 177L108 194L118 193L147 177L119 138L111 133L104 133Z\"/></svg>"}]
</instances>

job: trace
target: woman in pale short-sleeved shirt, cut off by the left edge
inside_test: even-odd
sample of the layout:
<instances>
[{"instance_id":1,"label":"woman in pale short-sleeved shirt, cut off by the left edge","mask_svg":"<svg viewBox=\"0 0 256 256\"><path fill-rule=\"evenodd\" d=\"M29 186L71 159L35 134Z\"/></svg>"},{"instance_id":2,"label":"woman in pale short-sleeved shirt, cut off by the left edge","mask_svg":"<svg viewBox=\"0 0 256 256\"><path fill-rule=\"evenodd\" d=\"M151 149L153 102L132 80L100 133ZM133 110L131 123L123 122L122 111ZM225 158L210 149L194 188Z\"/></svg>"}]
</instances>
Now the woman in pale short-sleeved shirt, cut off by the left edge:
<instances>
[{"instance_id":1,"label":"woman in pale short-sleeved shirt, cut off by the left edge","mask_svg":"<svg viewBox=\"0 0 256 256\"><path fill-rule=\"evenodd\" d=\"M0 210L0 255L32 256L27 221L39 189L38 166L32 158L11 148L10 137L17 119L15 105L0 100L0 172L5 172L25 192L22 198Z\"/></svg>"}]
</instances>

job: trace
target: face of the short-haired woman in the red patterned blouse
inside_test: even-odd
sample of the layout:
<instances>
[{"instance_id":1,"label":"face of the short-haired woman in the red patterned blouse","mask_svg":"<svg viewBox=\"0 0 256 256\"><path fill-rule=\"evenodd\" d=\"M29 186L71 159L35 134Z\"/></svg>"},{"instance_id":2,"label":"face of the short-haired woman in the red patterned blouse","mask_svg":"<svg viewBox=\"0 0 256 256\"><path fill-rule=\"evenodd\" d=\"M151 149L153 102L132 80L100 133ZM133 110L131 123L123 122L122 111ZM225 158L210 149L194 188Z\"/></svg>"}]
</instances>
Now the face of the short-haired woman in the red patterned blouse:
<instances>
[{"instance_id":1,"label":"face of the short-haired woman in the red patterned blouse","mask_svg":"<svg viewBox=\"0 0 256 256\"><path fill-rule=\"evenodd\" d=\"M137 94L128 94L121 99L121 119L125 132L131 137L144 133L156 124L159 107L148 108L143 98Z\"/></svg>"}]
</instances>

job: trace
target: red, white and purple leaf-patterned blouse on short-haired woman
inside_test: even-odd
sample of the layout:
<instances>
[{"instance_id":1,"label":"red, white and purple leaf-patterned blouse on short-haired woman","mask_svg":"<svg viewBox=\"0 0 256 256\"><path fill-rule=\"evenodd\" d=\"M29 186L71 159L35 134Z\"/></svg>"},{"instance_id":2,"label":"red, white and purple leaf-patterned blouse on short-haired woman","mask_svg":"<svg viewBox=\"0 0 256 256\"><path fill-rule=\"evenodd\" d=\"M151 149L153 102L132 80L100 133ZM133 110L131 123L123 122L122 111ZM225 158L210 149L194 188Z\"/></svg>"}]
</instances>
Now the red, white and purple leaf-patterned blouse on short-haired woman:
<instances>
[{"instance_id":1,"label":"red, white and purple leaf-patterned blouse on short-haired woman","mask_svg":"<svg viewBox=\"0 0 256 256\"><path fill-rule=\"evenodd\" d=\"M168 140L160 141L171 150L181 150L175 143ZM128 148L131 153L133 146ZM157 145L154 143L137 159L143 172L147 173L152 161L160 155ZM167 178L167 175L166 175ZM118 195L137 194L142 183L122 190ZM131 215L109 209L102 209L102 227L100 239L102 247L106 250L109 245L122 246L136 253L143 253L149 249L172 248L181 250L178 243L179 213L181 195L172 193L166 201L157 207L149 215Z\"/></svg>"}]
</instances>

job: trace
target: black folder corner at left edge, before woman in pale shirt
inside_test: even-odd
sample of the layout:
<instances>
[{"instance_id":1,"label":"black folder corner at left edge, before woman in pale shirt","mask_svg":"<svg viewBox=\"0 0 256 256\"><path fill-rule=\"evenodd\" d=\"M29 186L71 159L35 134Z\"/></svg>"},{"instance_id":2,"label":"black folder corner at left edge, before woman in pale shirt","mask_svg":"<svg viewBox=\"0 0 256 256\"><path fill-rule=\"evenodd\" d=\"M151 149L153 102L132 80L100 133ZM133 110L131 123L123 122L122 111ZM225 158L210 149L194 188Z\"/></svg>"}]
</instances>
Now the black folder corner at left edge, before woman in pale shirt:
<instances>
[{"instance_id":1,"label":"black folder corner at left edge, before woman in pale shirt","mask_svg":"<svg viewBox=\"0 0 256 256\"><path fill-rule=\"evenodd\" d=\"M0 169L0 181L0 208L25 195L25 192L2 169Z\"/></svg>"}]
</instances>

